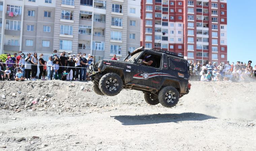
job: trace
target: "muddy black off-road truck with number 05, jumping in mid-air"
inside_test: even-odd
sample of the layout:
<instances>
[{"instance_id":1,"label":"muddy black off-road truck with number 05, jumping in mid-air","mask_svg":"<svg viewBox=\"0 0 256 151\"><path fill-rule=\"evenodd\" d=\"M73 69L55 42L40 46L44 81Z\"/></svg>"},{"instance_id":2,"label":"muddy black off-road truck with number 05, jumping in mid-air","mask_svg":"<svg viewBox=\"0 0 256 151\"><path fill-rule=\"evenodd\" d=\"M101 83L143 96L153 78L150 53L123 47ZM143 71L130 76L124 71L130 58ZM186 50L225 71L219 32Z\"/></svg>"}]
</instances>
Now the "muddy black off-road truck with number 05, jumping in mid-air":
<instances>
[{"instance_id":1,"label":"muddy black off-road truck with number 05, jumping in mid-air","mask_svg":"<svg viewBox=\"0 0 256 151\"><path fill-rule=\"evenodd\" d=\"M151 65L146 65L149 60ZM100 60L90 65L89 72L98 95L115 96L122 89L133 89L142 91L147 103L160 102L164 107L175 106L191 86L184 56L157 48L137 48L124 61Z\"/></svg>"}]
</instances>

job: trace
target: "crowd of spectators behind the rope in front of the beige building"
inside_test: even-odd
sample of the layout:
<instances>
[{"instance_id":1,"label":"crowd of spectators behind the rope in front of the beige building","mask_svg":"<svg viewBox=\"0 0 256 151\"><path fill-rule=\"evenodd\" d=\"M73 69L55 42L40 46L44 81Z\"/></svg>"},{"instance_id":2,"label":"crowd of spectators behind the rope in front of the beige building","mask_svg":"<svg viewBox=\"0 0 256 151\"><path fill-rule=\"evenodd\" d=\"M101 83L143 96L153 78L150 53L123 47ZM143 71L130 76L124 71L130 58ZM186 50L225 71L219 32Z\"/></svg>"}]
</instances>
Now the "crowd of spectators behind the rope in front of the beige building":
<instances>
[{"instance_id":1,"label":"crowd of spectators behind the rope in front of the beige building","mask_svg":"<svg viewBox=\"0 0 256 151\"><path fill-rule=\"evenodd\" d=\"M66 52L62 52L57 55L57 50L54 50L49 60L45 61L43 54L38 55L35 52L25 55L19 51L18 56L17 53L13 56L7 54L5 62L0 59L0 80L45 81L47 77L48 80L87 81L89 80L87 68L93 60L91 54L87 56L85 53L67 53L66 55Z\"/></svg>"}]
</instances>

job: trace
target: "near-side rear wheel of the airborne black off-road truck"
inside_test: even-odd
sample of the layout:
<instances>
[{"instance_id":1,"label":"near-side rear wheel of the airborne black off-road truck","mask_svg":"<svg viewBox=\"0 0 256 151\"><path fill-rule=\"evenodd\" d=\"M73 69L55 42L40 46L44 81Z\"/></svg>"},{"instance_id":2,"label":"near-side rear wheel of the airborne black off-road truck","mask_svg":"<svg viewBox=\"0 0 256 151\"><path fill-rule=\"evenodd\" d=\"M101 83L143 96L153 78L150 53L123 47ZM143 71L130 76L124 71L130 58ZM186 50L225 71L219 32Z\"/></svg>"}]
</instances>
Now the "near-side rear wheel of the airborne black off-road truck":
<instances>
[{"instance_id":1,"label":"near-side rear wheel of the airborne black off-road truck","mask_svg":"<svg viewBox=\"0 0 256 151\"><path fill-rule=\"evenodd\" d=\"M164 87L158 94L158 100L164 107L173 107L179 101L179 92L172 86Z\"/></svg>"}]
</instances>

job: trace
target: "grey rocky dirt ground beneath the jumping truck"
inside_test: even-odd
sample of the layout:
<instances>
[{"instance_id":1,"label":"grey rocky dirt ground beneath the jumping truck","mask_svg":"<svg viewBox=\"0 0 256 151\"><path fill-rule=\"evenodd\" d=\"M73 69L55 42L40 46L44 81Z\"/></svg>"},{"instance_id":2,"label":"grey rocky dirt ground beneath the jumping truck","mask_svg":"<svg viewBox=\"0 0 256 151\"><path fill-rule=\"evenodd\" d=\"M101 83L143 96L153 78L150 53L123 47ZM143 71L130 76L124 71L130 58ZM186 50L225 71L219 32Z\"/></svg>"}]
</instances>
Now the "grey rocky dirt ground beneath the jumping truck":
<instances>
[{"instance_id":1,"label":"grey rocky dirt ground beneath the jumping truck","mask_svg":"<svg viewBox=\"0 0 256 151\"><path fill-rule=\"evenodd\" d=\"M255 84L192 82L165 108L91 82L1 82L0 150L256 150Z\"/></svg>"}]
</instances>

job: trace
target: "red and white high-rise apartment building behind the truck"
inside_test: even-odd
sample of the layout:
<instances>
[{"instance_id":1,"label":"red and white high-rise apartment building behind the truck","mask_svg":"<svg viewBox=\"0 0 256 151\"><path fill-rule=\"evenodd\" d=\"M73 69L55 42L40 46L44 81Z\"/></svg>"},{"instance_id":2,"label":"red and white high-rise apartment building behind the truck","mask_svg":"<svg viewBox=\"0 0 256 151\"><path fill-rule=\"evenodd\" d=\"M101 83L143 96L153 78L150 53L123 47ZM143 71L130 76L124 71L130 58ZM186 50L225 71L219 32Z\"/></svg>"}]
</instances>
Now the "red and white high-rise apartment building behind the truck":
<instances>
[{"instance_id":1,"label":"red and white high-rise apartment building behind the truck","mask_svg":"<svg viewBox=\"0 0 256 151\"><path fill-rule=\"evenodd\" d=\"M140 44L200 62L227 61L226 0L142 0Z\"/></svg>"}]
</instances>

